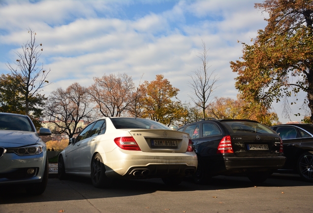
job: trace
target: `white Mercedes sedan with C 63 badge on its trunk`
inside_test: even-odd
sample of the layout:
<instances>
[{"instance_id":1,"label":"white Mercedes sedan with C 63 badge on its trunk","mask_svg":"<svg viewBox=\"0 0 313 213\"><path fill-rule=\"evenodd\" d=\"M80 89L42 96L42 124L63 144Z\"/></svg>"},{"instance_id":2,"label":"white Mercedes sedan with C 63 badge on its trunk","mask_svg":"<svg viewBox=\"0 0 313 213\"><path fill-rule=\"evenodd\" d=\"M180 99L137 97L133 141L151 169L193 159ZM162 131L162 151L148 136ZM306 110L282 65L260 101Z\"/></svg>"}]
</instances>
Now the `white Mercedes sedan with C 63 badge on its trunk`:
<instances>
[{"instance_id":1,"label":"white Mercedes sedan with C 63 badge on its trunk","mask_svg":"<svg viewBox=\"0 0 313 213\"><path fill-rule=\"evenodd\" d=\"M115 178L162 178L178 185L198 160L188 133L149 119L104 117L89 124L60 153L60 179L90 177L95 187Z\"/></svg>"}]
</instances>

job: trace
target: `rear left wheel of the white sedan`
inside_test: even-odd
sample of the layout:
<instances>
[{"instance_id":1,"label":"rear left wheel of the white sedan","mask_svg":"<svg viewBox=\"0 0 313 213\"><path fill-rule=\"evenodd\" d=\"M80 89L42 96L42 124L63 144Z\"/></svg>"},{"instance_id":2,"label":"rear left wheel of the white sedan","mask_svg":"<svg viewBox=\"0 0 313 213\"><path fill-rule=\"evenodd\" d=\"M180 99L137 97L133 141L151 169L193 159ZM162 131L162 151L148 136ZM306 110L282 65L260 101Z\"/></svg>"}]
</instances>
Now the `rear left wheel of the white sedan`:
<instances>
[{"instance_id":1,"label":"rear left wheel of the white sedan","mask_svg":"<svg viewBox=\"0 0 313 213\"><path fill-rule=\"evenodd\" d=\"M96 188L108 188L112 185L112 179L107 178L105 175L105 167L99 153L94 155L91 164L91 178Z\"/></svg>"}]
</instances>

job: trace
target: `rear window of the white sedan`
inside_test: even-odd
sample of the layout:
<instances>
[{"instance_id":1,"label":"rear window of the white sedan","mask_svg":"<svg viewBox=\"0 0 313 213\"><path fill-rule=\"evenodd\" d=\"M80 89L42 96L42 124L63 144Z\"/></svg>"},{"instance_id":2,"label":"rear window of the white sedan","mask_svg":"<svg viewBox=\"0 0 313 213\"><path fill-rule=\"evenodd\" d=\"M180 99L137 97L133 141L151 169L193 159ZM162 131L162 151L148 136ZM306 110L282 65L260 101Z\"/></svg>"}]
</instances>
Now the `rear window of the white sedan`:
<instances>
[{"instance_id":1,"label":"rear window of the white sedan","mask_svg":"<svg viewBox=\"0 0 313 213\"><path fill-rule=\"evenodd\" d=\"M116 129L171 129L157 121L143 118L118 117L111 118L111 121Z\"/></svg>"}]
</instances>

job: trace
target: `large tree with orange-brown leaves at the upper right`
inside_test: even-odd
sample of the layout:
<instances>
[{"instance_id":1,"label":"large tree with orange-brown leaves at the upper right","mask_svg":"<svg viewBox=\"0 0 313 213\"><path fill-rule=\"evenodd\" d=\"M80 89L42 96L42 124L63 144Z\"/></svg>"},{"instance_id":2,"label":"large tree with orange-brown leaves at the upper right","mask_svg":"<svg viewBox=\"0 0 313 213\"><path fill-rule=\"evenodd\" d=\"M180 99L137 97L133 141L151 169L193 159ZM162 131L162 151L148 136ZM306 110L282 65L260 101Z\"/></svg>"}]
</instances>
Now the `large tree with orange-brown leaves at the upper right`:
<instances>
[{"instance_id":1,"label":"large tree with orange-brown leaves at the upper right","mask_svg":"<svg viewBox=\"0 0 313 213\"><path fill-rule=\"evenodd\" d=\"M288 117L303 91L313 122L313 0L265 0L255 8L269 18L252 45L243 42L242 61L230 62L239 75L236 88L256 116L269 112L274 101L283 101Z\"/></svg>"}]
</instances>

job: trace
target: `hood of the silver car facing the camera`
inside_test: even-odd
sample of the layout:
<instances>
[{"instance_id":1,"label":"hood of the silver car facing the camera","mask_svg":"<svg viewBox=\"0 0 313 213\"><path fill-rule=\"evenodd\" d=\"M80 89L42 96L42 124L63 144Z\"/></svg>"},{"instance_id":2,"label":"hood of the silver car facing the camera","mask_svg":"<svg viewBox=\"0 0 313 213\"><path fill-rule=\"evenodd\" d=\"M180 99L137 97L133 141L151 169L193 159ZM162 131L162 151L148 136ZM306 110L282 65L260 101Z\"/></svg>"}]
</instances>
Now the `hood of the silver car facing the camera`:
<instances>
[{"instance_id":1,"label":"hood of the silver car facing the camera","mask_svg":"<svg viewBox=\"0 0 313 213\"><path fill-rule=\"evenodd\" d=\"M0 146L20 147L35 144L40 140L36 132L0 130Z\"/></svg>"}]
</instances>

